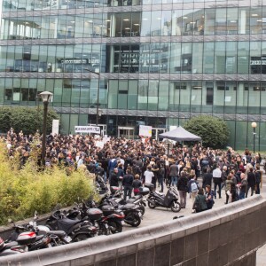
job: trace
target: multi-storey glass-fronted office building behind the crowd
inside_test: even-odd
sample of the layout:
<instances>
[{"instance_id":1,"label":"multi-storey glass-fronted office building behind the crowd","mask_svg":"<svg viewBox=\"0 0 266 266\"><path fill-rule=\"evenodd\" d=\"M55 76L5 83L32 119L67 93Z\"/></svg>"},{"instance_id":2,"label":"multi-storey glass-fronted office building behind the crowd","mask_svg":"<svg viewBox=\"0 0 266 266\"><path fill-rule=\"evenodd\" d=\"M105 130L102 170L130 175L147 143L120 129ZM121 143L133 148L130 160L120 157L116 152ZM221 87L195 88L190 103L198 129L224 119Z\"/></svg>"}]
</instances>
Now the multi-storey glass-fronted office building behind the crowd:
<instances>
[{"instance_id":1,"label":"multi-storey glass-fronted office building behind the crowd","mask_svg":"<svg viewBox=\"0 0 266 266\"><path fill-rule=\"evenodd\" d=\"M153 135L211 114L266 150L266 0L3 0L0 104L53 93L60 132ZM94 74L93 72L100 73Z\"/></svg>"}]
</instances>

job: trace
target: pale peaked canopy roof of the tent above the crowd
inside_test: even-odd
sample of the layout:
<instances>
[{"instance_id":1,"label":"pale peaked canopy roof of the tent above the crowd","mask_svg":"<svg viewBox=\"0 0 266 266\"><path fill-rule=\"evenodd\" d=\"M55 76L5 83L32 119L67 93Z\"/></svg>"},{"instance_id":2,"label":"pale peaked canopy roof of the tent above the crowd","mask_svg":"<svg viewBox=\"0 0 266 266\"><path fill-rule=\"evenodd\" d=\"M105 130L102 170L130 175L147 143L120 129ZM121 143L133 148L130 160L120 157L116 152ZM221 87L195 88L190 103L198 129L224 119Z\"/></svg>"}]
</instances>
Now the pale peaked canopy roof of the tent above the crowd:
<instances>
[{"instance_id":1,"label":"pale peaked canopy roof of the tent above the crowd","mask_svg":"<svg viewBox=\"0 0 266 266\"><path fill-rule=\"evenodd\" d=\"M183 129L182 127L178 127L171 131L162 133L159 137L172 139L175 141L201 141L201 137L192 134L191 132Z\"/></svg>"}]
</instances>

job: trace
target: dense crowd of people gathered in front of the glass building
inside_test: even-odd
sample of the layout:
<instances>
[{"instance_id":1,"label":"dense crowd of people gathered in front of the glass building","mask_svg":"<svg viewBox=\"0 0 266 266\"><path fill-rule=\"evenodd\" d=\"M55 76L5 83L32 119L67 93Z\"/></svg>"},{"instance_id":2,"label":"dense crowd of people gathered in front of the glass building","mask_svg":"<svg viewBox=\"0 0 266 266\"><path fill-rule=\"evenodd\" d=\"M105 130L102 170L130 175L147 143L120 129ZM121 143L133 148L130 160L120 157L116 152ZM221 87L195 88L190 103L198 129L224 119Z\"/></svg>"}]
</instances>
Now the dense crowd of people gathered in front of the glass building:
<instances>
[{"instance_id":1,"label":"dense crowd of people gathered in front of the glass building","mask_svg":"<svg viewBox=\"0 0 266 266\"><path fill-rule=\"evenodd\" d=\"M21 166L32 152L32 144L41 145L41 136L24 135L10 129L2 137L9 156L20 153ZM41 161L41 159L40 159ZM168 150L154 139L129 140L84 135L49 135L46 142L45 166L64 164L84 168L96 176L103 176L106 184L124 188L124 197L137 194L139 188L152 183L155 188L177 188L182 207L188 194L193 201L193 212L213 207L216 197L225 204L260 193L262 171L260 153L245 150L237 153L231 148L213 150L200 144L192 147L176 144ZM199 185L202 177L202 185Z\"/></svg>"}]
</instances>

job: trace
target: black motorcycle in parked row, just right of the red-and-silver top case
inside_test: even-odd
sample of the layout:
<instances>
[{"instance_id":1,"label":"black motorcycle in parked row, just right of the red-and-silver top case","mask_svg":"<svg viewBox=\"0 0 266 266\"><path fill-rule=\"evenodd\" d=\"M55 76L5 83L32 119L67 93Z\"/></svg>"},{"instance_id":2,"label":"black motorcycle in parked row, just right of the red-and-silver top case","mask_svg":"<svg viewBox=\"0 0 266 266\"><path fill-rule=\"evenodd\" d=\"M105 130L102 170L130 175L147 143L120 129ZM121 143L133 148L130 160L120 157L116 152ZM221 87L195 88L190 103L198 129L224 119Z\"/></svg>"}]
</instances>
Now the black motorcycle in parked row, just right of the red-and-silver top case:
<instances>
[{"instance_id":1,"label":"black motorcycle in parked row, just right of the red-and-silver top case","mask_svg":"<svg viewBox=\"0 0 266 266\"><path fill-rule=\"evenodd\" d=\"M102 212L98 209L97 211L92 210L90 212L90 219L99 219L101 216ZM74 242L90 239L98 234L97 227L90 223L90 221L69 219L60 210L53 212L45 224L51 230L65 231Z\"/></svg>"}]
</instances>

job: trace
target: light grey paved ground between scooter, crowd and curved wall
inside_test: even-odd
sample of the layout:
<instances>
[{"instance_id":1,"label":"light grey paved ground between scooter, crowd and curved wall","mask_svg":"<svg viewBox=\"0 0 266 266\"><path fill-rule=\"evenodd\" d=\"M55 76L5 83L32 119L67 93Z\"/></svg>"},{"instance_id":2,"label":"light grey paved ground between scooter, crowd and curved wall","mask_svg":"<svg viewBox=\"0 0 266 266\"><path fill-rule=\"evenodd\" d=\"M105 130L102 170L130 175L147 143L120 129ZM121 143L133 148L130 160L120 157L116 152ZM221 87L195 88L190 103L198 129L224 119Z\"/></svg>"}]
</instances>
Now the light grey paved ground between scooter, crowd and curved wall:
<instances>
[{"instance_id":1,"label":"light grey paved ground between scooter, crowd and curved wall","mask_svg":"<svg viewBox=\"0 0 266 266\"><path fill-rule=\"evenodd\" d=\"M160 191L160 189L158 188L157 191ZM166 188L164 189L164 192L167 192ZM250 195L250 192L249 192L249 195ZM266 176L265 175L263 175L262 195L263 197L266 197ZM213 208L224 206L225 199L226 199L225 192L223 190L222 199L218 199L218 198L215 199L215 205ZM142 223L139 225L139 228L145 227L145 226L148 226L154 223L163 223L165 221L169 221L173 219L174 216L181 216L181 215L184 215L184 216L197 215L197 214L192 214L192 200L189 199L189 196L187 197L186 208L182 208L179 213L173 213L170 209L162 208L162 207L156 207L155 209L150 209L149 207L145 207L144 219L142 220ZM124 231L129 231L129 230L135 230L135 228L125 224ZM266 266L266 245L258 249L256 265Z\"/></svg>"}]
</instances>

